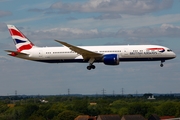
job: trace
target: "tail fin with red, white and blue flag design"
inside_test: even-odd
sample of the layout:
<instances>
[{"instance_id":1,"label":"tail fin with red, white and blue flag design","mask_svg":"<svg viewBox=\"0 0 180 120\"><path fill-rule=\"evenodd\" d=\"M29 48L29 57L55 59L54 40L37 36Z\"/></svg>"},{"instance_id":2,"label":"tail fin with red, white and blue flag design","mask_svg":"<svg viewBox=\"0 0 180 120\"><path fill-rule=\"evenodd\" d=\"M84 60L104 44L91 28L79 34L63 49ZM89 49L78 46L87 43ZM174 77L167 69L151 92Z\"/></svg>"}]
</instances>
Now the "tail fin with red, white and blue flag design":
<instances>
[{"instance_id":1,"label":"tail fin with red, white and blue flag design","mask_svg":"<svg viewBox=\"0 0 180 120\"><path fill-rule=\"evenodd\" d=\"M14 25L7 25L18 52L31 49L34 44Z\"/></svg>"}]
</instances>

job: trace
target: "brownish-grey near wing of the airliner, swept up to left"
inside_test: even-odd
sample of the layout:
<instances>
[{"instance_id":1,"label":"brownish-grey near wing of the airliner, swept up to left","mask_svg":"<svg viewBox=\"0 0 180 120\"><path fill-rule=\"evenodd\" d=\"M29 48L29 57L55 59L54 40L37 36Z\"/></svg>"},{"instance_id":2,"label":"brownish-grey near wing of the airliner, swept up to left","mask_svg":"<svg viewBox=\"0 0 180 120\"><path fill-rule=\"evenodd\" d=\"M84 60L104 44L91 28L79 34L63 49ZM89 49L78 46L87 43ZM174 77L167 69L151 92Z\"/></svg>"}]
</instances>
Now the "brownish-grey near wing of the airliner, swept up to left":
<instances>
[{"instance_id":1,"label":"brownish-grey near wing of the airliner, swept up to left","mask_svg":"<svg viewBox=\"0 0 180 120\"><path fill-rule=\"evenodd\" d=\"M86 50L86 49L71 45L71 44L63 42L63 41L59 41L59 40L55 40L55 41L61 43L62 45L66 46L66 47L68 47L72 51L82 55L84 60L87 60L87 59L100 59L103 56L103 54L96 53L96 52L93 52L93 51L89 51L89 50Z\"/></svg>"}]
</instances>

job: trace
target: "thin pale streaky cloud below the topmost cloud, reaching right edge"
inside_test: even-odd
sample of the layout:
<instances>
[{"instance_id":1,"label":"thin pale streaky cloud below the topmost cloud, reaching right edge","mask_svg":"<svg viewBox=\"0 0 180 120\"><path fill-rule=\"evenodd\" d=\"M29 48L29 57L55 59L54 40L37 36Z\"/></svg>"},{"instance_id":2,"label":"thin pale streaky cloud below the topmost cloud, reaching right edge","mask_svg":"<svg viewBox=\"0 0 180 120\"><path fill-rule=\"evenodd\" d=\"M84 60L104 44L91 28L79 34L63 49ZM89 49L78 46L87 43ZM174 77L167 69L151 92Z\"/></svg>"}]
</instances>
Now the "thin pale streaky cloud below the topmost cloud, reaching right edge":
<instances>
[{"instance_id":1,"label":"thin pale streaky cloud below the topmost cloud, reaching right edge","mask_svg":"<svg viewBox=\"0 0 180 120\"><path fill-rule=\"evenodd\" d=\"M94 29L98 28L103 31L117 32L120 28L134 29L138 27L151 27L159 26L164 23L174 24L180 21L180 14L167 14L162 16L134 16L134 15L121 15L122 18L112 17L109 14L105 16L100 15L94 18L81 18L62 23L59 27L73 27L81 29ZM119 16L120 17L120 16Z\"/></svg>"}]
</instances>

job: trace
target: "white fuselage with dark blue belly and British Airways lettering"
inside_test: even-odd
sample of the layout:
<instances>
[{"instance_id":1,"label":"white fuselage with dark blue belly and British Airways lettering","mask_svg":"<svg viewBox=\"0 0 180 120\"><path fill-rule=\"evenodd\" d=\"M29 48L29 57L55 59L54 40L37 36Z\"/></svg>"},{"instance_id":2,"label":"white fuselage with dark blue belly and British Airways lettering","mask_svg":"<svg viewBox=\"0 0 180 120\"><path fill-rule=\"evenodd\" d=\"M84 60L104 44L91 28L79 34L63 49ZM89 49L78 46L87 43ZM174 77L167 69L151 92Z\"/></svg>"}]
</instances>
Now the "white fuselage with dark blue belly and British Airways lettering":
<instances>
[{"instance_id":1,"label":"white fuselage with dark blue belly and British Airways lettering","mask_svg":"<svg viewBox=\"0 0 180 120\"><path fill-rule=\"evenodd\" d=\"M176 55L169 48L158 45L119 45L119 46L78 46L95 53L117 54L120 61L156 61L175 58ZM160 50L148 50L148 48L163 48ZM78 53L68 47L33 47L30 50L23 50L28 55L17 55L16 57L28 60L48 63L61 62L87 62ZM102 62L95 60L94 62Z\"/></svg>"}]
</instances>

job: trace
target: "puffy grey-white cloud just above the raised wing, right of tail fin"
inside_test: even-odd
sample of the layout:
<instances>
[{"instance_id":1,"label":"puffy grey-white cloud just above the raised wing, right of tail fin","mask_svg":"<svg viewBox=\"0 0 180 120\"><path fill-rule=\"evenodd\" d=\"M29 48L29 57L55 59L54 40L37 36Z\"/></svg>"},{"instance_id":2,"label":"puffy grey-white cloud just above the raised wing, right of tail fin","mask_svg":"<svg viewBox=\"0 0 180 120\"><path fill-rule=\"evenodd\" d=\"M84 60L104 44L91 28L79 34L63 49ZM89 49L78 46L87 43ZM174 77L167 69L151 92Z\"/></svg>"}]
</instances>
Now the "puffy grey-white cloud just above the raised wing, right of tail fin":
<instances>
[{"instance_id":1,"label":"puffy grey-white cloud just above the raised wing, right of tail fin","mask_svg":"<svg viewBox=\"0 0 180 120\"><path fill-rule=\"evenodd\" d=\"M111 33L100 32L97 29L83 30L78 28L52 28L28 32L33 39L92 39L112 36Z\"/></svg>"}]
</instances>

